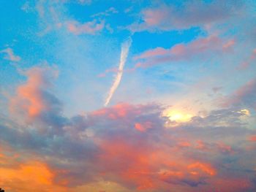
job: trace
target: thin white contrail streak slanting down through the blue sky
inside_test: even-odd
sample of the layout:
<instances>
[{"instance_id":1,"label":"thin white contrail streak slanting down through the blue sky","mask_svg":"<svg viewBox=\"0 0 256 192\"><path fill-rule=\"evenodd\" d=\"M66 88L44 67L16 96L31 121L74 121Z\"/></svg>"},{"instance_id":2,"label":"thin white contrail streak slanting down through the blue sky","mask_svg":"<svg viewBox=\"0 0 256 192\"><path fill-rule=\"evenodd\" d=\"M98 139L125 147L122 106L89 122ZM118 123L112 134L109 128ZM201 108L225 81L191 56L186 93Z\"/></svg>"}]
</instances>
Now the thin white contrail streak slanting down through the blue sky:
<instances>
[{"instance_id":1,"label":"thin white contrail streak slanting down through the blue sky","mask_svg":"<svg viewBox=\"0 0 256 192\"><path fill-rule=\"evenodd\" d=\"M118 88L119 83L121 82L121 77L124 72L124 64L127 61L127 55L129 53L129 47L130 47L131 43L132 43L132 39L129 37L129 39L127 39L127 41L125 41L121 45L121 57L120 57L120 61L119 61L118 72L116 74L116 78L113 82L113 85L111 86L110 91L108 92L108 97L104 104L105 107L108 106L108 104L113 96L113 93L115 93L116 89Z\"/></svg>"}]
</instances>

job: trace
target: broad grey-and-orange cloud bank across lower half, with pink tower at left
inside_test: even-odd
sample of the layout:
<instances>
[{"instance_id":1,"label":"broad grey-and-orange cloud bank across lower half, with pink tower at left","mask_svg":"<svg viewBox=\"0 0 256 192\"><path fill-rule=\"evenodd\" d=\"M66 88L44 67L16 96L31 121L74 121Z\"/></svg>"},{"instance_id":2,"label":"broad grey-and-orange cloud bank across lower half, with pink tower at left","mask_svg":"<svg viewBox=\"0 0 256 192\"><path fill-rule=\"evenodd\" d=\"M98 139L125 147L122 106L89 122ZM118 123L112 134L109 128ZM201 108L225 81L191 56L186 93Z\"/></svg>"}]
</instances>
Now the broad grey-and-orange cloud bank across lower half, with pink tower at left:
<instances>
[{"instance_id":1,"label":"broad grey-and-orange cloud bank across lower half, with pink tower at left","mask_svg":"<svg viewBox=\"0 0 256 192\"><path fill-rule=\"evenodd\" d=\"M256 133L246 129L241 118L246 114L239 108L214 110L203 118L196 115L175 127L162 116L165 107L159 104L120 103L64 118L59 99L49 91L56 69L34 67L23 74L26 82L10 99L15 101L13 112L31 123L21 125L15 118L0 116L0 145L23 154L4 160L9 164L7 168L0 164L0 172L9 172L8 179L20 183L22 190L32 182L33 188L46 183L42 191L78 191L102 181L126 191L256 188L252 161L256 154L249 150L253 139L248 140ZM27 174L31 169L37 174ZM17 174L23 175L22 180ZM17 188L3 178L1 186ZM98 191L107 188L100 186Z\"/></svg>"}]
</instances>

